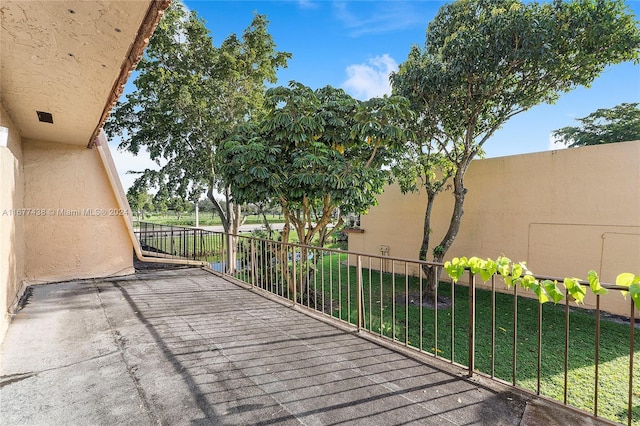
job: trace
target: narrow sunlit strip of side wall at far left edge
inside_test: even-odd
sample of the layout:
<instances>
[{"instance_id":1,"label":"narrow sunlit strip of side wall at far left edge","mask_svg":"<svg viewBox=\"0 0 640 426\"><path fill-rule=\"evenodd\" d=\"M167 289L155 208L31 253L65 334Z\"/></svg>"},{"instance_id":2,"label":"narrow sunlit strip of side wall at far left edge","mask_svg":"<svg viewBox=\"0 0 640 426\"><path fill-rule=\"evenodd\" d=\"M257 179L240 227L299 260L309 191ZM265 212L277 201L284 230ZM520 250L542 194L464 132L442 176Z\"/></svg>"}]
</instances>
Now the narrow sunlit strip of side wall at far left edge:
<instances>
[{"instance_id":1,"label":"narrow sunlit strip of side wall at far left edge","mask_svg":"<svg viewBox=\"0 0 640 426\"><path fill-rule=\"evenodd\" d=\"M9 325L8 310L17 301L24 279L24 205L22 141L0 103L0 126L9 129L7 147L0 147L0 341Z\"/></svg>"}]
</instances>

